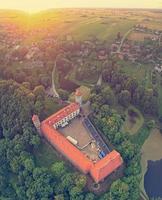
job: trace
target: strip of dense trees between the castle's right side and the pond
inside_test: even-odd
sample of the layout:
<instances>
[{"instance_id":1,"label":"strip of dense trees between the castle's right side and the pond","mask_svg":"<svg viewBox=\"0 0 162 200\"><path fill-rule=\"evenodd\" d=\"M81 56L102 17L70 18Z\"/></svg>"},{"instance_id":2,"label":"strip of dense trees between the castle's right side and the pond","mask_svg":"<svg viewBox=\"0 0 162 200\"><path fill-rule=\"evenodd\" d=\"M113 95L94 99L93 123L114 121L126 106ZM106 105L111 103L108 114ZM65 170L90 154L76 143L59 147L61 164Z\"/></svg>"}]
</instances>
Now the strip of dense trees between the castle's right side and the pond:
<instances>
[{"instance_id":1,"label":"strip of dense trees between the castle's right side and the pond","mask_svg":"<svg viewBox=\"0 0 162 200\"><path fill-rule=\"evenodd\" d=\"M103 101L103 96L105 101ZM145 124L138 135L140 142L136 142L129 134L121 131L125 116L120 115L112 108L113 102L114 96L109 87L104 89L102 87L94 88L91 96L91 107L93 109L91 120L121 153L125 162L124 177L112 184L111 189L113 187L114 191L110 190L106 197L107 199L136 200L140 198L138 187L141 180L140 149L144 142L141 135L143 133L149 134L150 129L154 127L154 122L148 121ZM115 198L112 197L112 194Z\"/></svg>"}]
</instances>

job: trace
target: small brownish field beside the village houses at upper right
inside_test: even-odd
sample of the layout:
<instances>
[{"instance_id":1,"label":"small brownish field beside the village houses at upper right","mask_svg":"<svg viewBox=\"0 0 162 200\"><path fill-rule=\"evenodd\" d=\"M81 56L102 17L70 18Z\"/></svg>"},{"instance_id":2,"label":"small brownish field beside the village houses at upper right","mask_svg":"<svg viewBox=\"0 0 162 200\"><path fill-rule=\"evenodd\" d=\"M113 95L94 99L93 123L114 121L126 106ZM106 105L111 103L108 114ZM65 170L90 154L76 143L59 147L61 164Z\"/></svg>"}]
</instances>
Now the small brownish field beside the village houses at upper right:
<instances>
[{"instance_id":1,"label":"small brownish field beside the village houses at upper right","mask_svg":"<svg viewBox=\"0 0 162 200\"><path fill-rule=\"evenodd\" d=\"M152 37L154 37L153 34L133 32L129 35L128 39L133 41L143 42L145 38L152 38Z\"/></svg>"}]
</instances>

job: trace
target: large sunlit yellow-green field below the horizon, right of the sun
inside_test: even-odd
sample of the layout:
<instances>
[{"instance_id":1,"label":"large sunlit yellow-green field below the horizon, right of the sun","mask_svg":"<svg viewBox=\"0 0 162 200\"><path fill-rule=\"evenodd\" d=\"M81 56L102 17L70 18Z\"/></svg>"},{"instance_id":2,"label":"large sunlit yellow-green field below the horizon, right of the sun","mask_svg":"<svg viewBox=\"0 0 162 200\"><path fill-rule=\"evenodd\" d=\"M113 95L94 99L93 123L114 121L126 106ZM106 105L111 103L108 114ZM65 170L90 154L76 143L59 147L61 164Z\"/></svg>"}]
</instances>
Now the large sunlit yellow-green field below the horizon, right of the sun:
<instances>
[{"instance_id":1,"label":"large sunlit yellow-green field below the horizon, right of the sun","mask_svg":"<svg viewBox=\"0 0 162 200\"><path fill-rule=\"evenodd\" d=\"M101 40L106 39L112 42L119 31L121 34L125 34L135 24L135 20L114 19L112 16L104 21L96 18L87 23L74 25L71 33L79 40L86 39L89 35L95 35Z\"/></svg>"}]
</instances>

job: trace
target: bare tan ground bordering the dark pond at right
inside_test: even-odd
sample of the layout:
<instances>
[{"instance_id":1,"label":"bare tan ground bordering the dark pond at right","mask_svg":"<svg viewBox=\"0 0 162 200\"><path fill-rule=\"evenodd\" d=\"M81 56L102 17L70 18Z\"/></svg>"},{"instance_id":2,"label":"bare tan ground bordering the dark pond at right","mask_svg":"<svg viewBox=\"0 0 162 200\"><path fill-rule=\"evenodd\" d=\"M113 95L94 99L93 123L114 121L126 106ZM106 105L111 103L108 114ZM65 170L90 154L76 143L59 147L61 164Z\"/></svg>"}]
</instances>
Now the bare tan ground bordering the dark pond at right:
<instances>
[{"instance_id":1,"label":"bare tan ground bordering the dark pond at right","mask_svg":"<svg viewBox=\"0 0 162 200\"><path fill-rule=\"evenodd\" d=\"M142 181L140 184L140 188L143 192L144 190L144 175L147 171L147 161L152 160L160 160L162 159L162 135L160 134L158 129L154 129L149 138L145 141L142 150Z\"/></svg>"}]
</instances>

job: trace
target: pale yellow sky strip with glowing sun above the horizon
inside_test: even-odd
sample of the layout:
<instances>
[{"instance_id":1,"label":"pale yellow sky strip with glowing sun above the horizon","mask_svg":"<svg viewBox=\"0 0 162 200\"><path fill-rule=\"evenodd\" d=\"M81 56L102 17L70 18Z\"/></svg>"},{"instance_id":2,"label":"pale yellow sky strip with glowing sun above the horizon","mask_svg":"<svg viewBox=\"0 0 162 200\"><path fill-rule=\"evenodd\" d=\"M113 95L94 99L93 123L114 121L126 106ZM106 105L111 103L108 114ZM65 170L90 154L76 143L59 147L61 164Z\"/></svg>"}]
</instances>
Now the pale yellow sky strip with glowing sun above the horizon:
<instances>
[{"instance_id":1,"label":"pale yellow sky strip with glowing sun above the horizon","mask_svg":"<svg viewBox=\"0 0 162 200\"><path fill-rule=\"evenodd\" d=\"M37 12L49 8L162 8L162 0L0 0L2 9Z\"/></svg>"}]
</instances>

